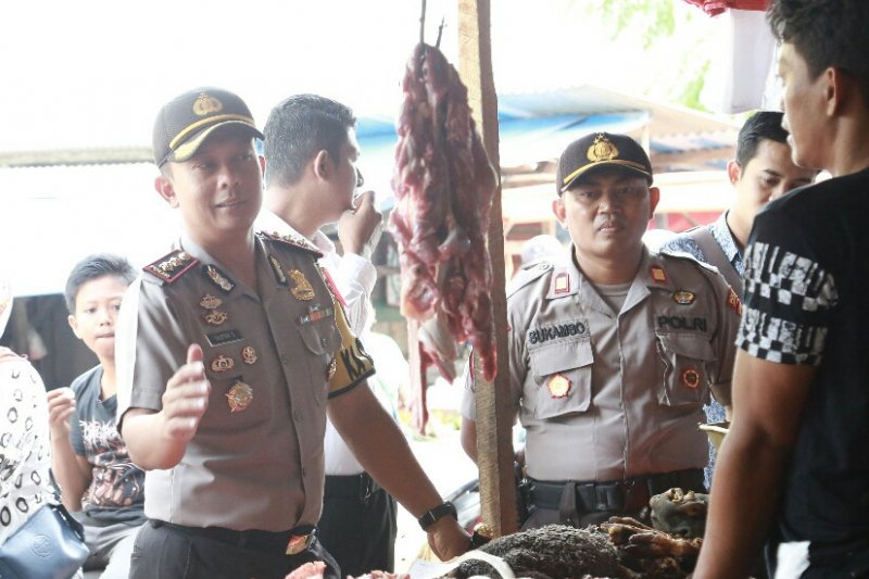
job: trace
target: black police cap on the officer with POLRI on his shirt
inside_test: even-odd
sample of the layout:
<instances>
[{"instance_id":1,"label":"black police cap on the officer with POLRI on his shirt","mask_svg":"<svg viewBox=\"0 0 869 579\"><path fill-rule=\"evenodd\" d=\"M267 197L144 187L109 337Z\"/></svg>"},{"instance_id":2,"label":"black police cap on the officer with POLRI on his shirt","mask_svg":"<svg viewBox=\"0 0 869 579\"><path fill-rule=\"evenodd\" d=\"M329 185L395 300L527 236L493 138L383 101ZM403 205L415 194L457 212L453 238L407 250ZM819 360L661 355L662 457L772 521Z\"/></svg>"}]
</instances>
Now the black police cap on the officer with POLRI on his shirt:
<instances>
[{"instance_id":1,"label":"black police cap on the officer with POLRI on his shirt","mask_svg":"<svg viewBox=\"0 0 869 579\"><path fill-rule=\"evenodd\" d=\"M652 162L640 143L627 135L592 133L568 144L558 159L555 181L558 194L581 176L606 166L635 172L652 184Z\"/></svg>"}]
</instances>

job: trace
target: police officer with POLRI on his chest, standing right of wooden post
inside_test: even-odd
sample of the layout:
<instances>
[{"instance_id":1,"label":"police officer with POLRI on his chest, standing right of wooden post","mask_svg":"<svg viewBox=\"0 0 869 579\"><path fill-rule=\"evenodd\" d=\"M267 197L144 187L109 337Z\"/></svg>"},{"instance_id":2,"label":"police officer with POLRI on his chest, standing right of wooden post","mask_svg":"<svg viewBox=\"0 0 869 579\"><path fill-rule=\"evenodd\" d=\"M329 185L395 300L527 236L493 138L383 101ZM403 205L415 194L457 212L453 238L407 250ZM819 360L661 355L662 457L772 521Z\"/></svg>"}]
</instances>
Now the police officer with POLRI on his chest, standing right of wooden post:
<instances>
[{"instance_id":1,"label":"police officer with POLRI on his chest, standing right of wooden post","mask_svg":"<svg viewBox=\"0 0 869 579\"><path fill-rule=\"evenodd\" d=\"M740 302L715 270L643 246L659 197L651 184L648 156L630 137L572 142L553 201L570 253L522 270L508 288L511 395L530 479L526 528L642 516L653 494L704 490L707 442L697 424L710 391L730 402ZM463 415L474 457L471 389Z\"/></svg>"}]
</instances>

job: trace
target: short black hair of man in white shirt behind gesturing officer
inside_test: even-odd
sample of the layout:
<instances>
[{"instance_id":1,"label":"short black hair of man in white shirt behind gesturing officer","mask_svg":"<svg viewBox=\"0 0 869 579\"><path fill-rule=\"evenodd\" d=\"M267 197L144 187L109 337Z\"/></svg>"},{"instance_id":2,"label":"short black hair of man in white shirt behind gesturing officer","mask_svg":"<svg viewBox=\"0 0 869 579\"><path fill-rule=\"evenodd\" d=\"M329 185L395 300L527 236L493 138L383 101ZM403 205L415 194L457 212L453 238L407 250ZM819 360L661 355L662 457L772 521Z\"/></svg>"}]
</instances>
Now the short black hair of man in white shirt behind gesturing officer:
<instances>
[{"instance_id":1,"label":"short black hair of man in white shirt behind gesturing officer","mask_svg":"<svg viewBox=\"0 0 869 579\"><path fill-rule=\"evenodd\" d=\"M353 111L318 95L294 95L268 114L263 134L265 184L286 187L298 181L311 159L326 150L335 162L348 131L356 126Z\"/></svg>"}]
</instances>

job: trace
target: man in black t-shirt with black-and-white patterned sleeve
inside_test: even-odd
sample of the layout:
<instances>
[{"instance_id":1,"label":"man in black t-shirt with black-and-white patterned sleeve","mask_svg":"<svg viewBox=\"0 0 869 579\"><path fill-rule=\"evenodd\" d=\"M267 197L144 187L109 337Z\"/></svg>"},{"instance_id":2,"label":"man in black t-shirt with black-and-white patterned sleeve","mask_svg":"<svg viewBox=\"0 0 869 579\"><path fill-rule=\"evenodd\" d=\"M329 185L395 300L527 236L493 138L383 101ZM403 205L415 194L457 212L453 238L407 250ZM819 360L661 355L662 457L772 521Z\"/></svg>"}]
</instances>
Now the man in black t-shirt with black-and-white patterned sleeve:
<instances>
[{"instance_id":1,"label":"man in black t-shirt with black-and-white patterned sleeve","mask_svg":"<svg viewBox=\"0 0 869 579\"><path fill-rule=\"evenodd\" d=\"M794 161L832 178L755 218L733 421L695 578L869 576L869 2L777 0Z\"/></svg>"}]
</instances>

